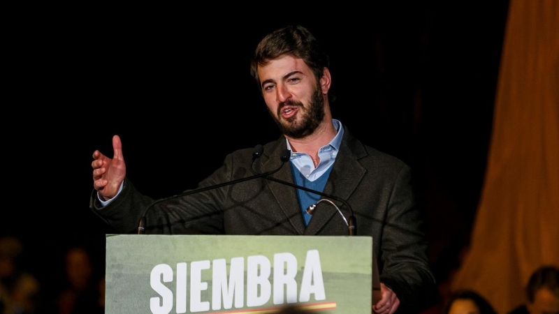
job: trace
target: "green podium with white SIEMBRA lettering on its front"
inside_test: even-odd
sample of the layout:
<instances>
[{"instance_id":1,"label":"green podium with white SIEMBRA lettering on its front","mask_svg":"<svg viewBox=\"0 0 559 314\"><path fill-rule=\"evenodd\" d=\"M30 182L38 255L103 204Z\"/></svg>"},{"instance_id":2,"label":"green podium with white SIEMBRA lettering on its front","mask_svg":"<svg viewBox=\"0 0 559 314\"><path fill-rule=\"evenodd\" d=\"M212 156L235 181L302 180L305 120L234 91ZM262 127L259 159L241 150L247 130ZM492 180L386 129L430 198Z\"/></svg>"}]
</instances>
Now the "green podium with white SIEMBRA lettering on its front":
<instances>
[{"instance_id":1,"label":"green podium with white SIEMBRA lettering on its front","mask_svg":"<svg viewBox=\"0 0 559 314\"><path fill-rule=\"evenodd\" d=\"M361 236L108 234L105 313L370 314L372 260Z\"/></svg>"}]
</instances>

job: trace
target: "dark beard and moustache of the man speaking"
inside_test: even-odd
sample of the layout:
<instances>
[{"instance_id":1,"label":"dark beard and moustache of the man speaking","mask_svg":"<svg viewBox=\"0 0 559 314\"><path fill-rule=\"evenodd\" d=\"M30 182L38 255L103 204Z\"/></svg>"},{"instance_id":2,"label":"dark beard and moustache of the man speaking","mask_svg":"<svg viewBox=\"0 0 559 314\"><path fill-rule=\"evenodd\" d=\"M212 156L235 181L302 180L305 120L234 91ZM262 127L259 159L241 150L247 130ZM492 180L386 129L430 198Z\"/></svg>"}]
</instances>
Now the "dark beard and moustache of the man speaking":
<instances>
[{"instance_id":1,"label":"dark beard and moustache of the man speaking","mask_svg":"<svg viewBox=\"0 0 559 314\"><path fill-rule=\"evenodd\" d=\"M282 118L282 110L285 105L292 105L300 107L300 119L297 120L297 115L289 118ZM320 86L314 89L314 93L311 96L308 112L305 111L305 106L300 101L288 100L284 103L279 103L277 107L277 113L273 113L270 108L268 108L270 116L277 124L279 130L291 138L303 138L310 135L318 128L320 123L324 120L324 97L322 96L322 90Z\"/></svg>"}]
</instances>

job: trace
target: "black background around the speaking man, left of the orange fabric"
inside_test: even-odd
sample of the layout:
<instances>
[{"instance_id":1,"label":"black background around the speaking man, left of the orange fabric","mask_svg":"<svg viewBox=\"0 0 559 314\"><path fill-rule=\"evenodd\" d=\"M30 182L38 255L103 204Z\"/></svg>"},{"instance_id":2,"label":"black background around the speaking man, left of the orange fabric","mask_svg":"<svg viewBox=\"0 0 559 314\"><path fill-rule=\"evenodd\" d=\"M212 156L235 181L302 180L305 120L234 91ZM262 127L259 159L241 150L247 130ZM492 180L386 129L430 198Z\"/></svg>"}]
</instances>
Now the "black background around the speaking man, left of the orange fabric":
<instances>
[{"instance_id":1,"label":"black background around the speaking man, left of the orange fabric","mask_svg":"<svg viewBox=\"0 0 559 314\"><path fill-rule=\"evenodd\" d=\"M92 153L112 156L113 134L130 179L156 198L194 188L234 149L275 140L249 57L289 23L308 27L331 54L334 117L412 165L433 266L467 243L508 1L213 6L18 12L6 46L0 235L24 241L27 269L51 278L74 244L103 267L112 230L88 201Z\"/></svg>"}]
</instances>

